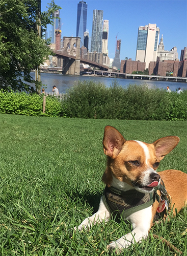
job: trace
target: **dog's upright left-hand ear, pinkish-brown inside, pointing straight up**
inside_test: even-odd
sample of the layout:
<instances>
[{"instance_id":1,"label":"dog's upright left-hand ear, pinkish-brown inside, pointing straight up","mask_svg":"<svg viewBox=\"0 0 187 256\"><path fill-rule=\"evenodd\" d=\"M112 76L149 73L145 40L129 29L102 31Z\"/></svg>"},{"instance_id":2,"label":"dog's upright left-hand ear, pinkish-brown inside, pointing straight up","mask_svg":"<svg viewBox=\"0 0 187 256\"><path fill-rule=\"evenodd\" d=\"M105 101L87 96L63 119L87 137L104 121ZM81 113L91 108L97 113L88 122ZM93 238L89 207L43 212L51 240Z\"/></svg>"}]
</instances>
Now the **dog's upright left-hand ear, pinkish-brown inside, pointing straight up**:
<instances>
[{"instance_id":1,"label":"dog's upright left-hand ear, pinkish-brown inside, pointing straight up","mask_svg":"<svg viewBox=\"0 0 187 256\"><path fill-rule=\"evenodd\" d=\"M116 158L125 141L118 130L109 125L105 126L102 144L106 156Z\"/></svg>"}]
</instances>

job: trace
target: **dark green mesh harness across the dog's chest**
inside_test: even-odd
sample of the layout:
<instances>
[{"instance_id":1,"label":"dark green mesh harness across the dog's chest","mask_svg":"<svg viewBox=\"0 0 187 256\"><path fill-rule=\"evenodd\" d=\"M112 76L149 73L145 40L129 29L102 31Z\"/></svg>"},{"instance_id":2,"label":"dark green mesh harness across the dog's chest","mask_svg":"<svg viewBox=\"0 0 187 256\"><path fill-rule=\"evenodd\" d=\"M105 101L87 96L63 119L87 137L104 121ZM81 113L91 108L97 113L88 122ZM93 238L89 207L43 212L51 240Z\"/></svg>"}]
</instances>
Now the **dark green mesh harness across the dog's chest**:
<instances>
[{"instance_id":1,"label":"dark green mesh harness across the dog's chest","mask_svg":"<svg viewBox=\"0 0 187 256\"><path fill-rule=\"evenodd\" d=\"M134 212L151 206L155 201L155 196L154 191L141 193L136 189L121 191L114 187L105 187L103 200L106 208L113 216L127 218Z\"/></svg>"}]
</instances>

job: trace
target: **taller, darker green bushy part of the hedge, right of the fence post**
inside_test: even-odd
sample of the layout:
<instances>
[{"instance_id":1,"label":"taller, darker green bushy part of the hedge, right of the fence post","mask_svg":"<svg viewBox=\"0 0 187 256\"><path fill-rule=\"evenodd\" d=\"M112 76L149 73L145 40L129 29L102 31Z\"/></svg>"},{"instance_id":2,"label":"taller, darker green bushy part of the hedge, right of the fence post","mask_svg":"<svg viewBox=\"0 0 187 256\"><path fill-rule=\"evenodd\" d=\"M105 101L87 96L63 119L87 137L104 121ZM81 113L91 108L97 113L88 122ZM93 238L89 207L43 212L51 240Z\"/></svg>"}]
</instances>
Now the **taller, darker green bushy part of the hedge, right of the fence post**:
<instances>
[{"instance_id":1,"label":"taller, darker green bushy part of the hedge, right of the fence post","mask_svg":"<svg viewBox=\"0 0 187 256\"><path fill-rule=\"evenodd\" d=\"M148 89L132 84L122 88L116 83L106 88L93 81L79 82L69 89L63 102L67 117L187 120L187 91L180 95L166 90Z\"/></svg>"}]
</instances>

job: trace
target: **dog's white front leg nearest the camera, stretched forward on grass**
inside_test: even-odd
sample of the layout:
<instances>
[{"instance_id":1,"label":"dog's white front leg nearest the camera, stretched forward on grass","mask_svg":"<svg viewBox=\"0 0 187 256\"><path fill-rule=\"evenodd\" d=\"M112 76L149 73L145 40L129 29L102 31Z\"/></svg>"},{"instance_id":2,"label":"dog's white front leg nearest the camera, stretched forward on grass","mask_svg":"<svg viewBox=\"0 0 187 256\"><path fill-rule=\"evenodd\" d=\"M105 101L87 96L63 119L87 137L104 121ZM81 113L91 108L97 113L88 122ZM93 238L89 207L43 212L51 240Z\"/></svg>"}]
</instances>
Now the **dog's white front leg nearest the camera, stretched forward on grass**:
<instances>
[{"instance_id":1,"label":"dog's white front leg nearest the camera, stretched forward on grass","mask_svg":"<svg viewBox=\"0 0 187 256\"><path fill-rule=\"evenodd\" d=\"M127 220L132 223L133 230L117 241L108 245L109 250L116 250L120 252L122 249L127 248L131 243L140 242L142 239L147 238L152 219L152 205L143 210L137 211L130 215Z\"/></svg>"}]
</instances>

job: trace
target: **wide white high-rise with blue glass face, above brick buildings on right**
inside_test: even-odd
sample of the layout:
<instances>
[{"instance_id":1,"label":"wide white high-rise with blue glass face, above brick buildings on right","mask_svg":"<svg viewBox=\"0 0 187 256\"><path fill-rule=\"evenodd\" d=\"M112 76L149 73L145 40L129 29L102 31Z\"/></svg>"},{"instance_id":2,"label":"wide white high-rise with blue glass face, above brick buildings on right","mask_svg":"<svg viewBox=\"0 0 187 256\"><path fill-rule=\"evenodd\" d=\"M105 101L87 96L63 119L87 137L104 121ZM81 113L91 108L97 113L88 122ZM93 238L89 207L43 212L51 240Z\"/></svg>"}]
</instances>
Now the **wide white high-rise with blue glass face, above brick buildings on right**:
<instances>
[{"instance_id":1,"label":"wide white high-rise with blue glass face, above brick buildings on right","mask_svg":"<svg viewBox=\"0 0 187 256\"><path fill-rule=\"evenodd\" d=\"M146 62L146 69L150 61L156 61L158 40L159 28L156 24L139 27L136 60Z\"/></svg>"}]
</instances>

